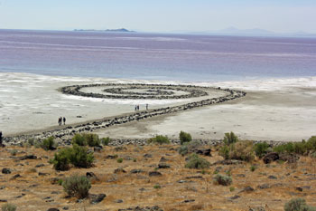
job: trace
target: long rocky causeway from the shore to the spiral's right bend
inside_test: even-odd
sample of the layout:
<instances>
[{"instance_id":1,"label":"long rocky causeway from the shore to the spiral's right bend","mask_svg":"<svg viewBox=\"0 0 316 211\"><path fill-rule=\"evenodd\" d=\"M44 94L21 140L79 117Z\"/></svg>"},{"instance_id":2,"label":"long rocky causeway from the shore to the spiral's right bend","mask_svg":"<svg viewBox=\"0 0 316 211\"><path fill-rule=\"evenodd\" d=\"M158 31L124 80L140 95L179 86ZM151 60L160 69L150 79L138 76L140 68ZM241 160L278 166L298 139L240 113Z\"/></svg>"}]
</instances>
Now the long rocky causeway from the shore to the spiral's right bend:
<instances>
[{"instance_id":1,"label":"long rocky causeway from the shore to the spiral's right bend","mask_svg":"<svg viewBox=\"0 0 316 211\"><path fill-rule=\"evenodd\" d=\"M135 84L134 84L135 85ZM143 84L144 85L144 84ZM79 91L79 87L87 87L87 86L95 86L92 85L80 85L80 86L71 86L70 90L77 90ZM163 87L166 87L163 85ZM183 86L184 87L184 86ZM193 87L193 86L187 86L187 87ZM193 90L196 90L195 88L198 88L194 86ZM12 136L12 137L5 137L4 142L8 145L21 145L23 142L27 141L28 139L46 139L49 137L54 137L57 139L60 139L60 144L70 144L71 137L79 132L93 132L96 129L106 129L111 126L124 124L131 121L136 120L144 120L148 118L152 118L155 116L165 115L165 114L172 114L181 110L191 110L198 107L204 107L212 104L218 104L225 101L232 101L238 98L242 98L246 95L245 91L237 91L237 90L230 90L230 89L220 89L220 88L209 88L209 87L200 87L203 89L215 89L220 91L226 91L228 94L223 97L218 98L211 98L206 99L203 101L194 101L185 103L182 105L172 106L172 107L165 107L155 110L142 110L142 111L136 111L135 113L125 114L121 116L117 116L112 119L104 119L104 120L92 120L86 123L77 124L74 126L68 126L66 128L61 129L51 129L47 131L42 131L37 134L30 134L30 135L19 135L19 136ZM62 88L62 92L65 89ZM197 93L198 95L201 93L199 91L191 91L191 93ZM70 92L68 92L70 94ZM72 93L73 94L73 93ZM78 94L79 95L79 94ZM89 97L94 97L93 93L90 93ZM199 95L200 96L200 95Z\"/></svg>"}]
</instances>

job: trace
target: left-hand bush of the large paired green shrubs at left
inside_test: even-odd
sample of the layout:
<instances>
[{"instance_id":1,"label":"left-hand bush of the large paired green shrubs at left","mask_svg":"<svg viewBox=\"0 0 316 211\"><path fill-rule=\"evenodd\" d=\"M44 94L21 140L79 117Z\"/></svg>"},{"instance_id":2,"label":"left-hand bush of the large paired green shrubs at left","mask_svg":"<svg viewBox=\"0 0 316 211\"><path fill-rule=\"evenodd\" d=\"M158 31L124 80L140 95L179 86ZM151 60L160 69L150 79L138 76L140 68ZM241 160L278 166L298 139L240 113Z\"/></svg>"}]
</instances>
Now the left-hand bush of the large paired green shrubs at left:
<instances>
[{"instance_id":1,"label":"left-hand bush of the large paired green shrubs at left","mask_svg":"<svg viewBox=\"0 0 316 211\"><path fill-rule=\"evenodd\" d=\"M58 153L55 153L54 158L51 160L53 168L60 171L70 169L70 154L72 149L64 148L60 149Z\"/></svg>"}]
</instances>

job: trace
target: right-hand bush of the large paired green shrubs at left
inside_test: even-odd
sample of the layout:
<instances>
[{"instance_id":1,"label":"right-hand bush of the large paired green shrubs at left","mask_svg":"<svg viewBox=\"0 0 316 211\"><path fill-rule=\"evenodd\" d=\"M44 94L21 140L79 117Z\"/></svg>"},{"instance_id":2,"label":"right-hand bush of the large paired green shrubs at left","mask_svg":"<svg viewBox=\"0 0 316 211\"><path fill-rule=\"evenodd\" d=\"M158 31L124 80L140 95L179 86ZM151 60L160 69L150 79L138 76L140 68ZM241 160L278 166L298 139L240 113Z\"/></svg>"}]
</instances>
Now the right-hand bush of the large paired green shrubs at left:
<instances>
[{"instance_id":1,"label":"right-hand bush of the large paired green shrubs at left","mask_svg":"<svg viewBox=\"0 0 316 211\"><path fill-rule=\"evenodd\" d=\"M93 153L88 153L85 147L73 145L70 153L70 163L78 168L89 168L92 166L94 157Z\"/></svg>"}]
</instances>

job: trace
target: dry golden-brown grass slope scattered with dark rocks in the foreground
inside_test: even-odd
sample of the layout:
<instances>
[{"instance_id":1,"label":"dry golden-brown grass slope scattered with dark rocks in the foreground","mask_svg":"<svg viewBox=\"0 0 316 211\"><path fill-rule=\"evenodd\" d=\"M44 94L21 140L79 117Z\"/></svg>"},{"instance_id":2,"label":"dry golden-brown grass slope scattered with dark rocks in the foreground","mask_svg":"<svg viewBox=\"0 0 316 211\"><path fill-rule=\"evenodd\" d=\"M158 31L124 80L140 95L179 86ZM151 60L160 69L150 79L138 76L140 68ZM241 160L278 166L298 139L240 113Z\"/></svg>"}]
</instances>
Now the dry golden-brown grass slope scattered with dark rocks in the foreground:
<instances>
[{"instance_id":1,"label":"dry golden-brown grass slope scattered with dark rocks in the foreground","mask_svg":"<svg viewBox=\"0 0 316 211\"><path fill-rule=\"evenodd\" d=\"M184 168L185 157L181 157L175 150L178 146L144 146L143 149L136 146L125 147L126 149L122 151L106 147L101 152L95 153L96 161L93 168L71 168L63 172L55 171L48 163L54 152L34 148L0 149L0 168L12 169L9 175L0 174L0 187L5 186L4 189L0 189L0 199L5 199L18 206L18 210L25 211L47 210L50 207L62 210L64 206L69 206L69 210L87 211L117 210L133 206L160 206L167 211L248 210L249 206L264 206L266 210L281 211L285 202L293 197L303 197L308 205L316 206L314 200L316 164L312 158L301 158L295 166L276 162L266 166L261 160L255 160L252 164L211 166L202 172L199 169ZM8 149L19 151L15 157L34 154L39 159L14 161ZM122 163L117 163L116 158L107 158L108 155L116 154L118 158L124 159ZM144 158L145 154L151 154L153 157ZM213 157L203 158L210 163L222 159L217 152L212 154ZM156 169L162 157L167 159L165 163L171 168ZM38 164L45 166L35 168ZM252 172L250 166L254 164L257 165L257 169ZM235 187L233 191L230 191L229 186L213 184L213 172L218 167L221 168L220 174L225 174L230 169L233 178L230 187ZM124 168L126 173L114 174L116 168ZM130 173L132 169L142 169L144 172L132 174ZM163 176L149 177L148 172L153 170L158 170ZM40 172L49 175L39 176ZM61 186L51 184L51 178L63 178L73 174L85 175L86 172L94 172L99 179L91 182L92 187L89 192L107 195L97 205L90 205L88 199L77 203L76 198L66 198ZM20 174L21 177L12 179L16 174ZM240 176L241 174L245 177ZM269 179L270 175L274 175L277 179ZM192 176L202 178L187 178ZM269 184L271 187L257 188L258 185L263 184ZM156 185L161 188L154 188ZM239 193L247 186L255 188L255 191ZM304 186L311 188L304 188L302 192L295 189ZM230 199L236 195L240 197ZM123 203L116 203L117 199L122 199ZM191 199L194 201L184 202Z\"/></svg>"}]
</instances>

